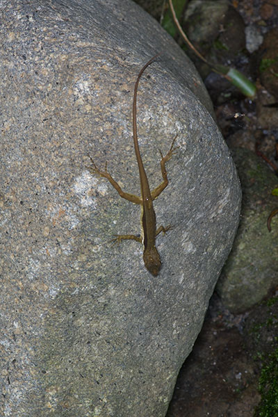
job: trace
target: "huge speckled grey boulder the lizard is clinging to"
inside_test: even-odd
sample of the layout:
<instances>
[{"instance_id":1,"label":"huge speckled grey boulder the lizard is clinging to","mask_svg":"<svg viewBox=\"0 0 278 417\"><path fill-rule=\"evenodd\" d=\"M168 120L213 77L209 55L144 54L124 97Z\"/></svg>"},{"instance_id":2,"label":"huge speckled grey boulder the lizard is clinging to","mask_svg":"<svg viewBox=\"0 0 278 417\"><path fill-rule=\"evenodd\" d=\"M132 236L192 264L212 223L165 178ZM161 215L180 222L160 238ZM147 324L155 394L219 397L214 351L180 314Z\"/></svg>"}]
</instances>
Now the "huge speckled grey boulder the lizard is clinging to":
<instances>
[{"instance_id":1,"label":"huge speckled grey boulder the lizard is clinging to","mask_svg":"<svg viewBox=\"0 0 278 417\"><path fill-rule=\"evenodd\" d=\"M211 103L177 44L134 3L0 2L1 405L5 417L161 417L199 333L238 224L240 188ZM93 177L88 153L139 193L152 188L163 260L154 278L140 208Z\"/></svg>"}]
</instances>

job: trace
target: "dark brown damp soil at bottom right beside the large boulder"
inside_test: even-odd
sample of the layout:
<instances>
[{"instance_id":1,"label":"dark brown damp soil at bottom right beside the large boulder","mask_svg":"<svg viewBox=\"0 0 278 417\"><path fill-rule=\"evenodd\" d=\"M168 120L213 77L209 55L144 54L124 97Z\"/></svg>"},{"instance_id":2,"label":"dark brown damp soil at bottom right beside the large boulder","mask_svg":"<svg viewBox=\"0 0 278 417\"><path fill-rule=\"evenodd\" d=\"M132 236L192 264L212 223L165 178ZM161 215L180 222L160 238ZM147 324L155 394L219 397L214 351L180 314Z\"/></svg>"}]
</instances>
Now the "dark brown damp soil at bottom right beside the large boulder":
<instances>
[{"instance_id":1,"label":"dark brown damp soil at bottom right beside the large boulder","mask_svg":"<svg viewBox=\"0 0 278 417\"><path fill-rule=\"evenodd\" d=\"M272 315L266 303L233 315L215 293L179 373L167 417L253 417L261 401L262 352L278 335L277 325L263 334Z\"/></svg>"}]
</instances>

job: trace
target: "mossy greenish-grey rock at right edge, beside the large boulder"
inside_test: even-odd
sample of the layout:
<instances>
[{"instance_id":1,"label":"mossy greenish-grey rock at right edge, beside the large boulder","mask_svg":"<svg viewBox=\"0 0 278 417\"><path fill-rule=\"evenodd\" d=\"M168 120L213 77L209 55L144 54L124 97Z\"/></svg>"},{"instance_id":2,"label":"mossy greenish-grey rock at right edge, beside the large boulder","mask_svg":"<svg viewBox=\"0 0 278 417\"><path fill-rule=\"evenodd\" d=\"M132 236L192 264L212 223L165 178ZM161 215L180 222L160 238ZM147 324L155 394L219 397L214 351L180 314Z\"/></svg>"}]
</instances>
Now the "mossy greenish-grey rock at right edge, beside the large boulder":
<instances>
[{"instance_id":1,"label":"mossy greenish-grey rock at right edge, beside the large boulder","mask_svg":"<svg viewBox=\"0 0 278 417\"><path fill-rule=\"evenodd\" d=\"M278 218L266 221L278 206L271 195L277 177L254 152L237 148L234 162L243 188L243 208L231 254L224 265L217 290L233 313L250 309L278 284Z\"/></svg>"}]
</instances>

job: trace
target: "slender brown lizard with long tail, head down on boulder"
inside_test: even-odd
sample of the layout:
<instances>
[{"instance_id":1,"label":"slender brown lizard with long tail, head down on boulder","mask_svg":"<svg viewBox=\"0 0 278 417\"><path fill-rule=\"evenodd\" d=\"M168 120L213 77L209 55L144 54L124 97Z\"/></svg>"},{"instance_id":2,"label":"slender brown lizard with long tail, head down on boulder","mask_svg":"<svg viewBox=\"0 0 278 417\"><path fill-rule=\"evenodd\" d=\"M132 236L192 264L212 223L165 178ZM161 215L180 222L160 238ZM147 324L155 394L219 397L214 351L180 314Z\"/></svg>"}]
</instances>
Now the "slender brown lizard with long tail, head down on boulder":
<instances>
[{"instance_id":1,"label":"slender brown lizard with long tail, head down on boulder","mask_svg":"<svg viewBox=\"0 0 278 417\"><path fill-rule=\"evenodd\" d=\"M134 93L133 93L133 145L135 149L136 159L138 163L138 170L139 170L139 177L140 177L140 188L141 188L141 197L137 195L124 193L122 188L120 188L119 184L111 177L111 174L107 171L107 162L105 165L105 171L99 170L95 162L90 157L92 162L92 166L88 169L92 174L97 174L100 177L105 177L108 181L112 184L112 186L117 190L119 195L129 200L129 202L140 204L141 206L141 226L142 226L142 236L138 237L135 235L116 235L114 241L118 243L121 242L123 239L133 239L137 240L138 242L142 243L144 246L143 252L143 259L145 262L145 267L149 272L156 277L158 272L161 268L161 258L158 254L158 250L156 249L156 236L163 231L163 234L170 229L170 226L167 227L158 227L156 230L156 214L154 213L154 206L153 201L162 193L165 187L168 185L167 179L167 172L165 169L165 163L170 160L172 154L176 148L174 148L174 140L172 141L172 145L170 147L169 152L165 156L162 155L161 151L161 173L163 177L163 182L156 187L152 192L149 188L149 181L147 179L147 174L145 172L145 167L142 163L142 158L139 150L138 145L138 136L137 136L137 121L136 121L136 99L137 99L137 91L138 91L138 84L142 73L146 70L146 68L156 59L156 56L153 56L140 70L138 77L136 79L136 83L134 86ZM177 136L176 136L177 137Z\"/></svg>"}]
</instances>

